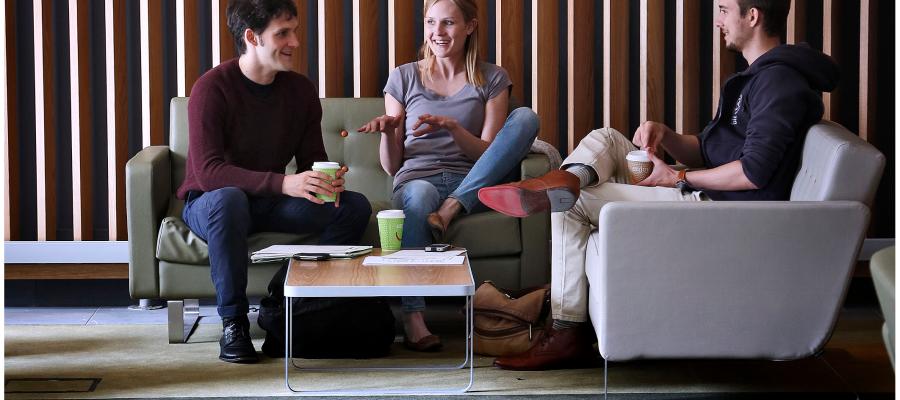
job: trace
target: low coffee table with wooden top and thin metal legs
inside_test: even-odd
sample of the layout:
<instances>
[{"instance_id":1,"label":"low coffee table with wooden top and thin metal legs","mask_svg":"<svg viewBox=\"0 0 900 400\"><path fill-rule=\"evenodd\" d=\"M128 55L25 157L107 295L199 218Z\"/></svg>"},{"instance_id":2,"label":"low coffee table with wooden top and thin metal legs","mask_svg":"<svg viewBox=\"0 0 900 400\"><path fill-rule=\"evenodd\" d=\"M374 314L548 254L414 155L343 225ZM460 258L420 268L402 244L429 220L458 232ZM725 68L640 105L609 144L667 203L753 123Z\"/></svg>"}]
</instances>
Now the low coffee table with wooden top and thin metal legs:
<instances>
[{"instance_id":1,"label":"low coffee table with wooden top and thin metal legs","mask_svg":"<svg viewBox=\"0 0 900 400\"><path fill-rule=\"evenodd\" d=\"M387 252L386 252L387 253ZM465 255L466 253L464 253ZM381 255L381 249L373 250L373 256ZM473 321L472 296L475 281L469 267L468 256L460 265L362 265L365 256L349 260L298 261L291 260L284 282L285 297L285 358L284 383L295 393L318 395L372 395L372 394L449 394L469 390L475 380L472 352ZM463 296L466 298L466 354L458 365L416 367L365 367L365 368L302 368L291 357L293 301L297 297L402 297L402 296ZM301 370L450 370L469 367L469 382L451 389L407 388L396 390L301 390L291 385L291 366Z\"/></svg>"}]
</instances>

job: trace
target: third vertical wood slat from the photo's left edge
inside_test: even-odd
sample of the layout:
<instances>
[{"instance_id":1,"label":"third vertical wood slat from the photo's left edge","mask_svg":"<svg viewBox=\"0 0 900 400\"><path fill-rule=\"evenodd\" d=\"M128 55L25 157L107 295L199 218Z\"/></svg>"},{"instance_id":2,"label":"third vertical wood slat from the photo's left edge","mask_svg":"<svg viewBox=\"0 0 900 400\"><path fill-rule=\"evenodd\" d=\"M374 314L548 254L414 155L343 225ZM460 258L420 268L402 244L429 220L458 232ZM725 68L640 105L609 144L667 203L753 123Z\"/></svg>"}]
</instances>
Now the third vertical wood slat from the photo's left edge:
<instances>
[{"instance_id":1,"label":"third vertical wood slat from the photo's left edge","mask_svg":"<svg viewBox=\"0 0 900 400\"><path fill-rule=\"evenodd\" d=\"M74 240L93 239L92 117L88 3L69 0L72 110L72 228Z\"/></svg>"}]
</instances>

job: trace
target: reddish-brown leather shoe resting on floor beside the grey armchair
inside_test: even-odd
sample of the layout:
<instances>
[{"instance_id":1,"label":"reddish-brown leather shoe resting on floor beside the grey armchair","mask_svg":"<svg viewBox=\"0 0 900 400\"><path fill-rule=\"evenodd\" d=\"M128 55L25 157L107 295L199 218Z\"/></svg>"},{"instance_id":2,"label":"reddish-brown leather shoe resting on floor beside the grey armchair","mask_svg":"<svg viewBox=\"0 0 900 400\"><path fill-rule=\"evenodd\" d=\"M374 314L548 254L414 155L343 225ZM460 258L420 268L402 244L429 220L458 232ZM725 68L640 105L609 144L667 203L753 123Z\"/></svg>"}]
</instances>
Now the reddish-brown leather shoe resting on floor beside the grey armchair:
<instances>
[{"instance_id":1,"label":"reddish-brown leather shoe resting on floor beside the grey armchair","mask_svg":"<svg viewBox=\"0 0 900 400\"><path fill-rule=\"evenodd\" d=\"M494 366L516 371L592 366L597 360L597 352L591 346L592 335L587 324L581 325L561 330L548 327L543 337L526 352L498 357Z\"/></svg>"}]
</instances>

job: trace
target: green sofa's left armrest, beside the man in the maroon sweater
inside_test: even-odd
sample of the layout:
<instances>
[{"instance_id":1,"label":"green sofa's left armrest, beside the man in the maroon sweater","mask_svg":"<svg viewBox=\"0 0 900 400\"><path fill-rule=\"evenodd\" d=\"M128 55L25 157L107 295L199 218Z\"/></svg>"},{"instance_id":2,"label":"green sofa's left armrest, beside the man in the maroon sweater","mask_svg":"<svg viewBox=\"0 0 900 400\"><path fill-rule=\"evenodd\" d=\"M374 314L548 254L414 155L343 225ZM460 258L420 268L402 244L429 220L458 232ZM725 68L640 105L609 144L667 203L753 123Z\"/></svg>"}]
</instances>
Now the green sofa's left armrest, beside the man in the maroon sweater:
<instances>
[{"instance_id":1,"label":"green sofa's left armrest, beside the man in the maroon sweater","mask_svg":"<svg viewBox=\"0 0 900 400\"><path fill-rule=\"evenodd\" d=\"M132 298L159 297L156 239L171 195L172 166L167 146L147 147L125 164L128 288Z\"/></svg>"}]
</instances>

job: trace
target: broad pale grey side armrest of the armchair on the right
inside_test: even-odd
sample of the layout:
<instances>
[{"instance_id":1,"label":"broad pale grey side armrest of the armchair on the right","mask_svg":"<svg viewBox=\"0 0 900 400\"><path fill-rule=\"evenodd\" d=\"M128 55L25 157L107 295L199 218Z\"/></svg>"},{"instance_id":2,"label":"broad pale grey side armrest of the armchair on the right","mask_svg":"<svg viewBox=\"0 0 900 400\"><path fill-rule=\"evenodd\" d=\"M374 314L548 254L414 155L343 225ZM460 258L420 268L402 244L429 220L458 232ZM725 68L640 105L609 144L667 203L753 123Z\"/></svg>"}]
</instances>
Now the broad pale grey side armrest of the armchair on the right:
<instances>
[{"instance_id":1,"label":"broad pale grey side armrest of the armchair on the right","mask_svg":"<svg viewBox=\"0 0 900 400\"><path fill-rule=\"evenodd\" d=\"M828 340L865 236L859 202L613 202L588 243L609 360L797 359Z\"/></svg>"}]
</instances>

